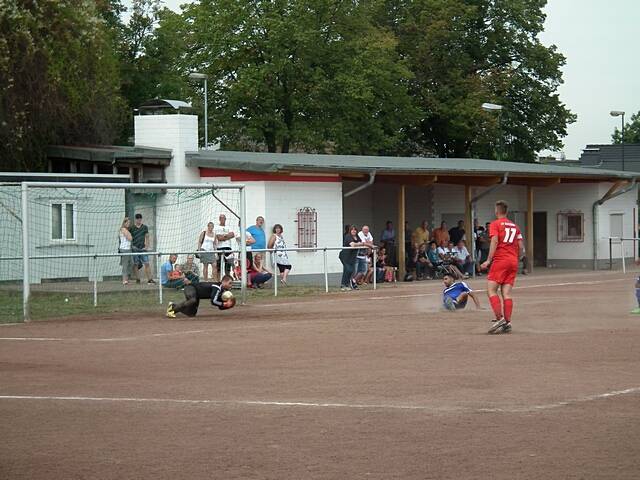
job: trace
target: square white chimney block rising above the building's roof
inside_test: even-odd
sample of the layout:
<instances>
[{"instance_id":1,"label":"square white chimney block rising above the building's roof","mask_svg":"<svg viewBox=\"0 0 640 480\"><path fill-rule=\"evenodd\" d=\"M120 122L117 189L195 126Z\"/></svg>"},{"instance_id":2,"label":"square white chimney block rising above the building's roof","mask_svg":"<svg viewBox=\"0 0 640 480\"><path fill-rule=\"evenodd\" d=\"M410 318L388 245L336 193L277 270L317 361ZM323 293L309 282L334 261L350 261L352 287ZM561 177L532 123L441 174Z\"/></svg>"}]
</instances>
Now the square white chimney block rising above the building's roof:
<instances>
[{"instance_id":1,"label":"square white chimney block rising above the building's roof","mask_svg":"<svg viewBox=\"0 0 640 480\"><path fill-rule=\"evenodd\" d=\"M170 148L171 163L165 170L168 183L200 183L197 168L185 164L185 152L198 150L198 117L196 115L136 115L134 117L136 147Z\"/></svg>"}]
</instances>

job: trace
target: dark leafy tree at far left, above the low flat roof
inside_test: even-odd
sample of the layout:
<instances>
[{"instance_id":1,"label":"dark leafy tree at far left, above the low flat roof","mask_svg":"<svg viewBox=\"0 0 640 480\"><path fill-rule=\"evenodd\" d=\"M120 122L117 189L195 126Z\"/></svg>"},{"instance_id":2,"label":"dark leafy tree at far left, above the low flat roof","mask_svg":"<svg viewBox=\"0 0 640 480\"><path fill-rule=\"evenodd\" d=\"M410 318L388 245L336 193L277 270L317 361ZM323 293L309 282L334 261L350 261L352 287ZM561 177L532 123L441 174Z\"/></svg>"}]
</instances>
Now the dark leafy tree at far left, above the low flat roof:
<instances>
[{"instance_id":1,"label":"dark leafy tree at far left, above the low flat roof","mask_svg":"<svg viewBox=\"0 0 640 480\"><path fill-rule=\"evenodd\" d=\"M3 169L43 169L49 144L114 139L123 103L99 18L87 0L0 1Z\"/></svg>"}]
</instances>

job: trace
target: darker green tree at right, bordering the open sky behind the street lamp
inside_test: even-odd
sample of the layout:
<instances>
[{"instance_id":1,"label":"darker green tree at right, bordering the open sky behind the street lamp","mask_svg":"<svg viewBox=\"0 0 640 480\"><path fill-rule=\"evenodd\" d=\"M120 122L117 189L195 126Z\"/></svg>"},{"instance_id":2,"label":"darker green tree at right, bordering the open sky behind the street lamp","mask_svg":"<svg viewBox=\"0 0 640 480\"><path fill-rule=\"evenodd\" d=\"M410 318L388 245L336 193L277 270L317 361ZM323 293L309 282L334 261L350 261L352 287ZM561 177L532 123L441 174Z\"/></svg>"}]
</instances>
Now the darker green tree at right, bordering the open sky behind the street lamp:
<instances>
[{"instance_id":1,"label":"darker green tree at right, bordering the open sky behind the street lamp","mask_svg":"<svg viewBox=\"0 0 640 480\"><path fill-rule=\"evenodd\" d=\"M575 121L560 102L564 57L543 46L544 0L388 0L377 18L400 39L424 116L411 132L417 151L493 157L500 137L509 160L559 149ZM385 15L385 12L391 12ZM503 105L498 118L480 105Z\"/></svg>"}]
</instances>

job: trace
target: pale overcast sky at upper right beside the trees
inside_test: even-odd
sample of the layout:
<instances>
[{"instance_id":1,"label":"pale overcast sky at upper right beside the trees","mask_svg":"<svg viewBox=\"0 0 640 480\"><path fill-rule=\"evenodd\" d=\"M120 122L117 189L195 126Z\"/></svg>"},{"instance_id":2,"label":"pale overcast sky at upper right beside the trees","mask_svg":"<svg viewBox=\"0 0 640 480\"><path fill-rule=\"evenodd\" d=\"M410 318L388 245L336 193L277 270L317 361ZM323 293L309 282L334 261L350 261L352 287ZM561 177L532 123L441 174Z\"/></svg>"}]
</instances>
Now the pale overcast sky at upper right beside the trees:
<instances>
[{"instance_id":1,"label":"pale overcast sky at upper right beside the trees","mask_svg":"<svg viewBox=\"0 0 640 480\"><path fill-rule=\"evenodd\" d=\"M185 1L164 5L178 11ZM560 99L578 119L563 139L564 153L577 159L587 144L611 143L621 122L611 110L625 111L626 121L640 112L640 0L548 0L545 13L540 39L567 60Z\"/></svg>"}]
</instances>

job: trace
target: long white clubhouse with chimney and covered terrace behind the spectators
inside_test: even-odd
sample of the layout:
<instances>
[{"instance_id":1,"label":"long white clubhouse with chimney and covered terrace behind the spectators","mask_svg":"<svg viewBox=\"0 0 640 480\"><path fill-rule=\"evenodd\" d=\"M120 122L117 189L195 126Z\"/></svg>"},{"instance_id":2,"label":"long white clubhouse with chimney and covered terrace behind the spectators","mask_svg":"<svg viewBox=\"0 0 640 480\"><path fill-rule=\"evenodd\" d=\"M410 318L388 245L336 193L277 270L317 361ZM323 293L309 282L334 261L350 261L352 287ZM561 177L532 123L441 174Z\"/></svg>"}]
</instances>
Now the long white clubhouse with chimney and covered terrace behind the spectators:
<instances>
[{"instance_id":1,"label":"long white clubhouse with chimney and covered terrace behind the spectators","mask_svg":"<svg viewBox=\"0 0 640 480\"><path fill-rule=\"evenodd\" d=\"M112 169L113 173L127 173L136 182L242 183L246 185L247 224L264 216L267 235L272 225L281 224L290 247L339 247L345 224L368 224L379 238L385 222L391 220L402 250L405 234L398 227L405 221L411 229L423 220L432 227L442 221L450 226L458 220L465 220L466 225L473 219L484 223L492 219L498 199L509 203L514 220L525 232L528 256L535 260L535 267L607 268L609 237L636 236L637 174L631 172L476 159L198 150L197 117L184 114L136 116L135 143L128 148L55 147L50 170L104 173ZM21 256L16 240L19 221L6 204L18 205L19 194L15 189L0 189L0 194L5 204L0 205L4 206L0 208L3 243L15 247L2 256L17 258ZM217 222L220 213L211 202L176 209L161 194L141 192L124 195L114 191L110 194L114 198L104 194L101 198L72 198L69 192L57 190L41 190L38 195L40 210L33 213L32 221L38 222L39 233L30 240L32 255L117 253L119 222L124 215L132 217L140 211L155 249L189 251L195 248L206 222ZM64 206L67 204L71 207ZM109 206L108 216L105 205ZM53 210L60 208L71 209L69 216L64 212L56 216ZM91 212L94 214L89 215ZM228 218L233 225L235 220ZM57 230L66 228L66 219L75 222L73 238L60 241L55 237ZM624 244L624 252L621 248L614 242L614 257L634 257L631 242ZM321 253L290 256L292 274L323 271ZM12 262L0 264L0 280L20 278L19 261ZM100 267L99 279L118 275L117 262L108 262ZM329 272L341 271L337 252L328 252L327 262ZM46 268L40 268L34 260L32 281L93 278L89 261L78 261L73 269L68 263L61 263L60 268L45 263Z\"/></svg>"}]
</instances>

